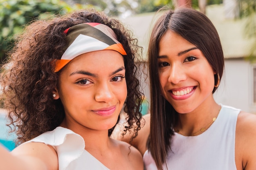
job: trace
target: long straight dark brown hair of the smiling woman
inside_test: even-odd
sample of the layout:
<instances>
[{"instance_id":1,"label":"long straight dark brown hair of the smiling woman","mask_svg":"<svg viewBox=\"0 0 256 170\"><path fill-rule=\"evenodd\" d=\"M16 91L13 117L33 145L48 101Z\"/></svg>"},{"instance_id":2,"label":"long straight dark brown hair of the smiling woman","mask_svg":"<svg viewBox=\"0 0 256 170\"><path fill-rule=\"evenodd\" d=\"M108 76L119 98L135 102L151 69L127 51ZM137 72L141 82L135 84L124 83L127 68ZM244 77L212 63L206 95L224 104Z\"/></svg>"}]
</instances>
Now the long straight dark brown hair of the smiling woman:
<instances>
[{"instance_id":1,"label":"long straight dark brown hair of the smiling woman","mask_svg":"<svg viewBox=\"0 0 256 170\"><path fill-rule=\"evenodd\" d=\"M166 166L166 156L171 151L171 137L177 119L173 106L161 95L158 56L159 41L171 30L194 44L202 51L213 70L222 77L224 57L220 38L211 21L199 11L188 8L168 10L153 27L148 46L150 78L150 137L148 148L158 170ZM170 44L171 46L172 44ZM215 77L215 83L218 79ZM213 88L214 93L216 87ZM167 166L166 166L167 168Z\"/></svg>"}]
</instances>

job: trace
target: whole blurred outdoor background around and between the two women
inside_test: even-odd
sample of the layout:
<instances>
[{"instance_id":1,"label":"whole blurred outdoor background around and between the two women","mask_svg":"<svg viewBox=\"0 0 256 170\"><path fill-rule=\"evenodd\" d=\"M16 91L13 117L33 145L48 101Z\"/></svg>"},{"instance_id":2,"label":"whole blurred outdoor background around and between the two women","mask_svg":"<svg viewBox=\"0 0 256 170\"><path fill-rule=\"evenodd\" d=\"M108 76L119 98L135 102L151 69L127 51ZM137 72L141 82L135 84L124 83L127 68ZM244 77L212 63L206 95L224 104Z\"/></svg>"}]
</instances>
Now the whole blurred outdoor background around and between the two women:
<instances>
[{"instance_id":1,"label":"whole blurred outdoor background around and between the two women","mask_svg":"<svg viewBox=\"0 0 256 170\"><path fill-rule=\"evenodd\" d=\"M8 60L6 53L29 22L85 8L119 18L138 39L146 59L150 30L159 17L156 11L165 5L192 7L213 22L225 56L224 77L214 97L218 103L256 114L256 0L0 0L0 64ZM148 79L139 78L145 95L142 113L147 114ZM0 101L0 143L12 150L16 136L8 133L7 123Z\"/></svg>"}]
</instances>

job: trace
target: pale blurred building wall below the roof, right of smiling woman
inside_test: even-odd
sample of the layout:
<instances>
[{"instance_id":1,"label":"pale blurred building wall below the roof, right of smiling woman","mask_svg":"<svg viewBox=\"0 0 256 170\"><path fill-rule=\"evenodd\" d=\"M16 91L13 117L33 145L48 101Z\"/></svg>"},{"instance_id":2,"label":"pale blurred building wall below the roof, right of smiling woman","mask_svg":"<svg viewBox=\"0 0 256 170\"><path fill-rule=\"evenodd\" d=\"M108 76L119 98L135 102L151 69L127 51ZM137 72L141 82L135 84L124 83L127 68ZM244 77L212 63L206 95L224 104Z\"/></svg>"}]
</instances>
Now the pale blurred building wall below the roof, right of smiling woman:
<instances>
[{"instance_id":1,"label":"pale blurred building wall below the roof, right of smiling woman","mask_svg":"<svg viewBox=\"0 0 256 170\"><path fill-rule=\"evenodd\" d=\"M253 104L253 66L244 59L225 60L225 73L214 93L216 102L256 113Z\"/></svg>"}]
</instances>

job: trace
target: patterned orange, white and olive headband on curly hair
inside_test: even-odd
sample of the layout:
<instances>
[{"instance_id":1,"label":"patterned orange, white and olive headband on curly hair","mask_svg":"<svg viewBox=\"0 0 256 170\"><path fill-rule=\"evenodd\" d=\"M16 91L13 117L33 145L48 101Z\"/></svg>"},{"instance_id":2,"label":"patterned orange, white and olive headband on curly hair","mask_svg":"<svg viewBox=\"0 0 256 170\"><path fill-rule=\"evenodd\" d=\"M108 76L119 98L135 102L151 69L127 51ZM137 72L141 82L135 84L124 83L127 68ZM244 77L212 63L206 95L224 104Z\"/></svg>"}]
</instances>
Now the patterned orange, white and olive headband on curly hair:
<instances>
[{"instance_id":1,"label":"patterned orange, white and olive headband on curly hair","mask_svg":"<svg viewBox=\"0 0 256 170\"><path fill-rule=\"evenodd\" d=\"M61 56L56 60L55 72L58 72L75 57L92 51L115 50L122 55L127 55L124 47L117 41L114 31L95 22L82 23L72 26L64 31L67 46Z\"/></svg>"}]
</instances>

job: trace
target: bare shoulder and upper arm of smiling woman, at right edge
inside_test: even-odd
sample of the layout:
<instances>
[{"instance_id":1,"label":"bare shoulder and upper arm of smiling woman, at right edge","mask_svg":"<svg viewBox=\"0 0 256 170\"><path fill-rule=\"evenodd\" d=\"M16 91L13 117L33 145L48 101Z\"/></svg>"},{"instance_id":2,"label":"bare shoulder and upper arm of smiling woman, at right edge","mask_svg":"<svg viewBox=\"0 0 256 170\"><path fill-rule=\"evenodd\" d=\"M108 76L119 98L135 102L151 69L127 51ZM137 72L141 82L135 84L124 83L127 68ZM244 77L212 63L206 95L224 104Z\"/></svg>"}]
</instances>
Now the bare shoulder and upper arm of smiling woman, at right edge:
<instances>
[{"instance_id":1,"label":"bare shoulder and upper arm of smiling woman, at right edge","mask_svg":"<svg viewBox=\"0 0 256 170\"><path fill-rule=\"evenodd\" d=\"M243 170L256 169L256 115L241 111L236 124L236 164ZM240 163L239 163L240 162Z\"/></svg>"}]
</instances>

